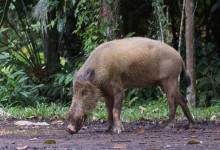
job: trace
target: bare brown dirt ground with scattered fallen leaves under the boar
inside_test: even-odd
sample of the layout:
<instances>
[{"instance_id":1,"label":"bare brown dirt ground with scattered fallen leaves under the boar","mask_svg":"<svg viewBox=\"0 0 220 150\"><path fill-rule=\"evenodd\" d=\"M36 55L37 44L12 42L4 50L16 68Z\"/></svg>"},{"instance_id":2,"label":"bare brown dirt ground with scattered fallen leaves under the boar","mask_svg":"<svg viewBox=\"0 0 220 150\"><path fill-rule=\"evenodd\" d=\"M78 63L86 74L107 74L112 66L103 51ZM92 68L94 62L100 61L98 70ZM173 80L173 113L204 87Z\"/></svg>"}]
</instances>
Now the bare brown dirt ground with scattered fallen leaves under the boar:
<instances>
[{"instance_id":1,"label":"bare brown dirt ground with scattered fallen leaves under the boar","mask_svg":"<svg viewBox=\"0 0 220 150\"><path fill-rule=\"evenodd\" d=\"M14 121L0 120L0 149L220 149L220 121L196 121L193 129L187 129L185 120L173 129L157 120L124 122L126 131L120 135L106 132L107 124L101 121L88 122L73 135L64 130L66 123L59 121L47 121L49 126L20 127Z\"/></svg>"}]
</instances>

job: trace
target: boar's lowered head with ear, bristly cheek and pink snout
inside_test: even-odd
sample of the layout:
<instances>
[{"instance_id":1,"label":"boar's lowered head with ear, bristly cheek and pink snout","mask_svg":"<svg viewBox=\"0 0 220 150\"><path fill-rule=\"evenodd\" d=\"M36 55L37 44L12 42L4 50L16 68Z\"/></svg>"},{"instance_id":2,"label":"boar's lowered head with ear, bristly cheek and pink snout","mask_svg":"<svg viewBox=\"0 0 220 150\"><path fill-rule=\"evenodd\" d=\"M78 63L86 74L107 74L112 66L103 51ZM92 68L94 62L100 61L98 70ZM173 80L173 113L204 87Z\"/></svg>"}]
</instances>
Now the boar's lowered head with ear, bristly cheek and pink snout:
<instances>
[{"instance_id":1,"label":"boar's lowered head with ear, bristly cheek and pink snout","mask_svg":"<svg viewBox=\"0 0 220 150\"><path fill-rule=\"evenodd\" d=\"M94 71L76 74L73 81L72 104L67 114L67 132L77 133L84 125L88 114L95 108L100 96L99 89L93 84Z\"/></svg>"}]
</instances>

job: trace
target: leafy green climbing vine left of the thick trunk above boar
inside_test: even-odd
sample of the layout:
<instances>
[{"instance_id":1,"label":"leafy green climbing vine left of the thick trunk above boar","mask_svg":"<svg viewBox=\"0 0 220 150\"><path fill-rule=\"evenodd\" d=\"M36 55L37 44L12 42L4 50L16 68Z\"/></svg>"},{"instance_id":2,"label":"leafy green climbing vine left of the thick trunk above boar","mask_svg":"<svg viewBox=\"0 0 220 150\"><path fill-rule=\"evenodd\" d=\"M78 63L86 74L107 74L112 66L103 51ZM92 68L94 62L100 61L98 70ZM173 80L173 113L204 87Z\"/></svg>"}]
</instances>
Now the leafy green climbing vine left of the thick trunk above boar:
<instances>
[{"instance_id":1,"label":"leafy green climbing vine left of the thick trunk above boar","mask_svg":"<svg viewBox=\"0 0 220 150\"><path fill-rule=\"evenodd\" d=\"M74 32L82 38L84 53L88 55L102 42L99 38L100 1L80 0L76 6L75 17L77 24Z\"/></svg>"}]
</instances>

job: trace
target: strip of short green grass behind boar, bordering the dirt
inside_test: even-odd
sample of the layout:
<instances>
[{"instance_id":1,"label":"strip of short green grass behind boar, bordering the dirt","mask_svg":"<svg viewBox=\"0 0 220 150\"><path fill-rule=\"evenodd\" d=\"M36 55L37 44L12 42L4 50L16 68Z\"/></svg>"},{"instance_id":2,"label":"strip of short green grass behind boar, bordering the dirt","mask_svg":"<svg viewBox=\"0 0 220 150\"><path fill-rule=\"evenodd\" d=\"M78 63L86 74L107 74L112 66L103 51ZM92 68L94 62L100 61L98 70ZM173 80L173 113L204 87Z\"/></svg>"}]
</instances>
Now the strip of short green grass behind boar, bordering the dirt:
<instances>
[{"instance_id":1,"label":"strip of short green grass behind boar, bordering the dirt","mask_svg":"<svg viewBox=\"0 0 220 150\"><path fill-rule=\"evenodd\" d=\"M6 112L10 113L13 118L65 118L69 106L61 104L38 104L36 107L5 107ZM212 106L209 108L190 107L190 111L195 119L220 119L220 106ZM142 105L125 106L122 108L121 118L123 121L137 121L141 119L148 120L165 120L168 119L169 109L165 100L147 102ZM90 115L91 120L106 119L105 105L102 101L98 102L97 107ZM176 119L183 119L184 115L180 107L177 109Z\"/></svg>"}]
</instances>

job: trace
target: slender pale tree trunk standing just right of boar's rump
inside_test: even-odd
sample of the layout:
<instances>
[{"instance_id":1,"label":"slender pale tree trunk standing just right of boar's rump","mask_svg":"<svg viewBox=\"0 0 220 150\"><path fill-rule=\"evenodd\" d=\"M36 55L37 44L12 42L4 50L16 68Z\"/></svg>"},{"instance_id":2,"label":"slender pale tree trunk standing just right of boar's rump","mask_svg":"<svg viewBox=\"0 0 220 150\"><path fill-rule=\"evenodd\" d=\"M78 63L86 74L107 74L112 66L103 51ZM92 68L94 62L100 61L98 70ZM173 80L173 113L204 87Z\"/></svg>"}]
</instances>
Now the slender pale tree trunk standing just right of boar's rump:
<instances>
[{"instance_id":1,"label":"slender pale tree trunk standing just right of boar's rump","mask_svg":"<svg viewBox=\"0 0 220 150\"><path fill-rule=\"evenodd\" d=\"M187 89L187 99L192 105L196 106L196 74L195 74L195 48L194 48L194 36L195 36L195 25L194 25L194 2L193 0L186 0L186 68L191 78L191 85Z\"/></svg>"}]
</instances>

